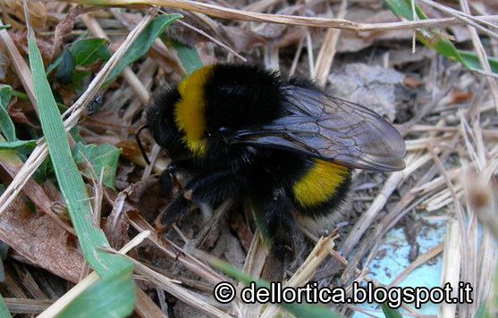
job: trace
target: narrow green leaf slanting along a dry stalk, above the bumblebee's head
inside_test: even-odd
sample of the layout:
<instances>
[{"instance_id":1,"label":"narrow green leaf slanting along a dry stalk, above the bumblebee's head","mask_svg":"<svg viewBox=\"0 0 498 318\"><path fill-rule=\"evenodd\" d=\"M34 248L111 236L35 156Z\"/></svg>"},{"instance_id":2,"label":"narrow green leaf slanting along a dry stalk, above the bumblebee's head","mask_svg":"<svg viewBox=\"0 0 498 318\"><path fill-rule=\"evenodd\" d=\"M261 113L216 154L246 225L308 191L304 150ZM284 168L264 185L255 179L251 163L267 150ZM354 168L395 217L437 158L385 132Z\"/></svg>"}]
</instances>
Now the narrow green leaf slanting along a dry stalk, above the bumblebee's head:
<instances>
[{"instance_id":1,"label":"narrow green leaf slanting along a dry stalk, above the bumblebee's head","mask_svg":"<svg viewBox=\"0 0 498 318\"><path fill-rule=\"evenodd\" d=\"M126 65L134 62L139 57L147 53L148 48L152 45L154 40L163 33L163 31L173 23L173 21L181 18L181 14L163 14L158 16L156 19L150 22L148 27L140 33L139 37L133 42L128 51L122 56L119 63L114 66L114 69L109 73L107 79L102 84L102 87L106 87L111 81L118 76Z\"/></svg>"}]
</instances>

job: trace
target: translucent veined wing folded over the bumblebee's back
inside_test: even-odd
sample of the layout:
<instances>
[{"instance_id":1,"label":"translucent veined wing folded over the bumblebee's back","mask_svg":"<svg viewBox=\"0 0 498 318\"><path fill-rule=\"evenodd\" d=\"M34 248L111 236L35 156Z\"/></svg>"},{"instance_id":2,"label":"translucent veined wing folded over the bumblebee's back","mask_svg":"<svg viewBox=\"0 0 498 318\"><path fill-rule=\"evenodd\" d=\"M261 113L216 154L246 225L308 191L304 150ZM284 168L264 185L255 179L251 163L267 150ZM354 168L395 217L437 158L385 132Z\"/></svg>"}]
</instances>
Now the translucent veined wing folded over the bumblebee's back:
<instances>
[{"instance_id":1,"label":"translucent veined wing folded over the bumblebee's back","mask_svg":"<svg viewBox=\"0 0 498 318\"><path fill-rule=\"evenodd\" d=\"M284 114L236 140L299 151L351 168L399 171L406 146L398 130L364 106L300 86L284 88Z\"/></svg>"}]
</instances>

